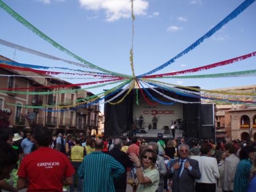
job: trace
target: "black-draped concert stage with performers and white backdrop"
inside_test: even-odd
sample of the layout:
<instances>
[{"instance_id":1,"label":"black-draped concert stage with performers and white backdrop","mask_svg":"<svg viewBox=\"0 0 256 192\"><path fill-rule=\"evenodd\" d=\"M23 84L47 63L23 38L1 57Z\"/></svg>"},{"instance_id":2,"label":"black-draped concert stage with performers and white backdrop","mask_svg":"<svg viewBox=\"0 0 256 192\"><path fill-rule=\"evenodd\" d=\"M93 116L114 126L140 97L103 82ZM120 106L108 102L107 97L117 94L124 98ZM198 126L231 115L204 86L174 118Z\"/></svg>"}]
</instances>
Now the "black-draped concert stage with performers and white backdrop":
<instances>
[{"instance_id":1,"label":"black-draped concert stage with performers and white backdrop","mask_svg":"<svg viewBox=\"0 0 256 192\"><path fill-rule=\"evenodd\" d=\"M150 89L147 90L160 101L165 103L171 102ZM186 97L162 89L157 90L169 97L182 101L200 102L200 98L197 97ZM119 96L114 102L119 101L122 97L123 95ZM163 105L152 101L150 97L146 98L150 103L146 102L141 94L138 94L139 105L137 105L137 93L136 89L133 89L123 102L118 105L105 103L104 135L123 135L123 133L131 130L132 124L135 122L137 129L140 130L136 136L157 137L160 133L164 138L171 138L170 127L174 122L178 122L179 129L176 129L176 131L179 131L177 133L175 131L175 137L196 137L202 139L215 137L213 105L178 102L174 102L172 105ZM152 103L154 105L150 105ZM144 132L141 132L141 130ZM168 130L170 130L170 133L167 133Z\"/></svg>"}]
</instances>

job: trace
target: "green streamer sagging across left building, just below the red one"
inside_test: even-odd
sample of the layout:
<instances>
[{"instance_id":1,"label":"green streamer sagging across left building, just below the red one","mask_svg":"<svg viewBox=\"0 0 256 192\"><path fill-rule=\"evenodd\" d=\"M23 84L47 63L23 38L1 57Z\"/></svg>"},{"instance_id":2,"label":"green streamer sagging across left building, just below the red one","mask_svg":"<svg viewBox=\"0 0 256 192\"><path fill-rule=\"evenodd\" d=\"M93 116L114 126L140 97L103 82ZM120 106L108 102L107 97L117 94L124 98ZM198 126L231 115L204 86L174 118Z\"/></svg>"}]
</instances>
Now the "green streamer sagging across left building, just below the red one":
<instances>
[{"instance_id":1,"label":"green streamer sagging across left building, just below the red one","mask_svg":"<svg viewBox=\"0 0 256 192\"><path fill-rule=\"evenodd\" d=\"M85 88L80 88L80 89L71 89L71 90L60 90L60 91L44 91L44 92L24 92L24 91L5 91L5 90L0 90L0 93L13 93L13 94L27 94L27 95L49 95L49 94L55 94L55 93L72 93L74 91L79 91L79 90L86 90L86 89L94 89L97 87L102 87L105 85L112 85L116 84L117 82L122 82L125 80L120 80L120 81L114 81L110 82L108 84L101 84L101 85L96 85L92 87L85 87Z\"/></svg>"}]
</instances>

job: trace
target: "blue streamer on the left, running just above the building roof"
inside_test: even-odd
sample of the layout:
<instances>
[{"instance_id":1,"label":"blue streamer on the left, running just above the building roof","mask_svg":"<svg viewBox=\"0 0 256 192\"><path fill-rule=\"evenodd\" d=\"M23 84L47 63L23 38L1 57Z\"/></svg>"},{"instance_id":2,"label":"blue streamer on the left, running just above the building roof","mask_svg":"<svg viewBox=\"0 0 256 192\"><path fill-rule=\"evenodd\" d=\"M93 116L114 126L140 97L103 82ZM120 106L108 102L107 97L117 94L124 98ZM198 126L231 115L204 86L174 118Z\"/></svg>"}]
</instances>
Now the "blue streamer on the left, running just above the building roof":
<instances>
[{"instance_id":1,"label":"blue streamer on the left, running just above the building roof","mask_svg":"<svg viewBox=\"0 0 256 192\"><path fill-rule=\"evenodd\" d=\"M32 68L32 69L50 69L50 68L55 68L55 69L73 70L73 71L82 72L82 73L109 75L108 73L89 72L89 71L86 71L86 70L70 69L70 68L60 68L60 67L57 67L57 66L30 65L30 64L23 64L23 63L20 63L20 62L3 61L3 60L0 60L0 63L8 64L8 65L13 65L13 66L21 66L21 67L24 67L24 68Z\"/></svg>"}]
</instances>

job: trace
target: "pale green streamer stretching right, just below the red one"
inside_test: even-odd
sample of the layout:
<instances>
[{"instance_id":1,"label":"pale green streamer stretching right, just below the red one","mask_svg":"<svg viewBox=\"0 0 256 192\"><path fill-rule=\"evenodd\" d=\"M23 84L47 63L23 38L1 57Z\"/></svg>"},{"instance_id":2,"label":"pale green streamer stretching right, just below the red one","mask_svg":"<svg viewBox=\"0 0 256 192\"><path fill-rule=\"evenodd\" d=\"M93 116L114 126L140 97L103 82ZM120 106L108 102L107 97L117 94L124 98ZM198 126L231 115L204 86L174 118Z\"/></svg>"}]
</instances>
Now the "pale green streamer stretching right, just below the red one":
<instances>
[{"instance_id":1,"label":"pale green streamer stretching right, just below the red one","mask_svg":"<svg viewBox=\"0 0 256 192\"><path fill-rule=\"evenodd\" d=\"M218 77L244 77L244 76L256 76L256 69L243 70L241 72L230 72L230 73L201 74L201 75L195 75L195 76L167 76L167 77L156 77L156 78L218 78Z\"/></svg>"}]
</instances>

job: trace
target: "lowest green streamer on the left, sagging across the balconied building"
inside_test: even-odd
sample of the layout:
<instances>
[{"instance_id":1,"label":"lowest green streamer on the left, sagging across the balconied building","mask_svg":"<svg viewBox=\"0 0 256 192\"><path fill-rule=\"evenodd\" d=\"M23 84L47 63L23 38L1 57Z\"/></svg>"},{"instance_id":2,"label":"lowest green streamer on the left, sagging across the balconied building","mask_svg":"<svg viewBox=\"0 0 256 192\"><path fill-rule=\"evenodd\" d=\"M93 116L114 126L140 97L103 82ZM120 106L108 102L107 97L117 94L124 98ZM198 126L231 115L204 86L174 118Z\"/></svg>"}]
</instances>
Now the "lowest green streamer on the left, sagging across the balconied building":
<instances>
[{"instance_id":1,"label":"lowest green streamer on the left, sagging across the balconied building","mask_svg":"<svg viewBox=\"0 0 256 192\"><path fill-rule=\"evenodd\" d=\"M99 95L101 94L108 94L110 92L113 92L117 89L119 89L119 87L122 87L126 84L129 84L129 82L131 82L131 79L123 82L122 84L118 85L118 86L115 86L113 87L112 89L109 89L107 91L103 91L101 93L98 93L98 94L95 94L95 95L92 95L92 96L89 96L89 97L86 97L86 98L81 98L81 99L77 99L75 100L75 102L80 102L80 101L83 101L83 100L89 100L89 99L93 99L93 98L96 98L98 97ZM62 105L65 105L64 103L61 103ZM67 103L66 103L67 104ZM19 104L12 104L12 103L7 103L7 105L11 105L11 106L19 106L19 107L26 107L26 108L44 108L44 107L55 107L57 105L60 105L60 103L56 103L55 105L43 105L43 106L31 106L31 105L19 105Z\"/></svg>"}]
</instances>

